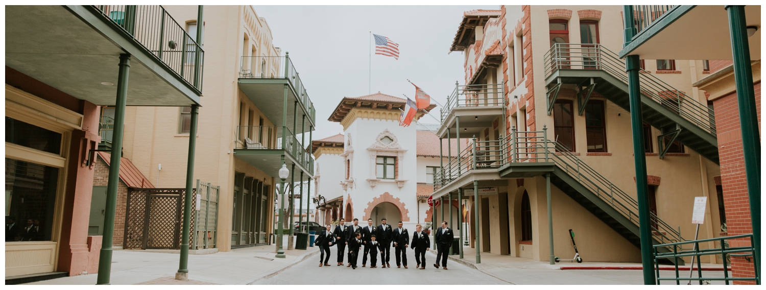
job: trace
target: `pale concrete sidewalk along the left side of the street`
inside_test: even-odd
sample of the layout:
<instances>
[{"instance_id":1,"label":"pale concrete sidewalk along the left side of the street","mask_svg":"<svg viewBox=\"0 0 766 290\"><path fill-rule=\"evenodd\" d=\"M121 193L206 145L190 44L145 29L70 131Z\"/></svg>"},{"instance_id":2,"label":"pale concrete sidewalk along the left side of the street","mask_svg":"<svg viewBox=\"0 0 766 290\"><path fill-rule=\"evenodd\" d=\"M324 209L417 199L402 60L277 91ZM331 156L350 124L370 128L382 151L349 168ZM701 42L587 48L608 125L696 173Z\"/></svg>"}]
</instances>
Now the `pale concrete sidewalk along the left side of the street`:
<instances>
[{"instance_id":1,"label":"pale concrete sidewalk along the left side of the street","mask_svg":"<svg viewBox=\"0 0 766 290\"><path fill-rule=\"evenodd\" d=\"M111 283L113 285L247 285L276 275L310 256L318 247L285 251L285 259L276 259L274 246L254 246L209 255L189 255L189 281L176 281L178 254L114 251ZM95 285L97 274L64 277L32 285Z\"/></svg>"}]
</instances>

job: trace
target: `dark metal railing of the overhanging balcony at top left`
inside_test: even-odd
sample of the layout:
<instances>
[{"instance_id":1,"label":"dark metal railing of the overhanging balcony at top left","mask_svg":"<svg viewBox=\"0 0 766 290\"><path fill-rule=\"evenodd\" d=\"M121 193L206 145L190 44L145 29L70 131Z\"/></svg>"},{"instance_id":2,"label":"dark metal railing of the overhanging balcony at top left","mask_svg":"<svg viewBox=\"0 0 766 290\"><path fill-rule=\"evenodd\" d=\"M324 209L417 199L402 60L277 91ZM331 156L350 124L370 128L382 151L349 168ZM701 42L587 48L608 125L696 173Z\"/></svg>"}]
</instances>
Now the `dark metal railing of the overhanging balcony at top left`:
<instances>
[{"instance_id":1,"label":"dark metal railing of the overhanging balcony at top left","mask_svg":"<svg viewBox=\"0 0 766 290\"><path fill-rule=\"evenodd\" d=\"M202 91L205 51L161 5L93 5L170 70ZM196 31L195 31L196 34Z\"/></svg>"}]
</instances>

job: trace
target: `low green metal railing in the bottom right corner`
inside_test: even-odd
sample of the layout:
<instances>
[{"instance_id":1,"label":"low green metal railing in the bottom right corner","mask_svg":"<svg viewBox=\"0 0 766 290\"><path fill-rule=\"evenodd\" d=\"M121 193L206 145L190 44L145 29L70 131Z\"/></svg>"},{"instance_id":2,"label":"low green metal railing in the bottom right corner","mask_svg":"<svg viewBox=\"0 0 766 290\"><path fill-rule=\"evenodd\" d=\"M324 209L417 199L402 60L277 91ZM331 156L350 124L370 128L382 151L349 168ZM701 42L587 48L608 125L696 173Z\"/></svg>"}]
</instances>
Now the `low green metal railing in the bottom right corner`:
<instances>
[{"instance_id":1,"label":"low green metal railing in the bottom right corner","mask_svg":"<svg viewBox=\"0 0 766 290\"><path fill-rule=\"evenodd\" d=\"M750 245L749 246L728 246L728 243L732 239L749 239ZM709 242L718 242L719 245L721 245L719 248L712 248L712 249L700 249L699 244L700 243L709 243ZM744 241L738 241L738 242L744 242ZM683 248L684 245L692 246L691 248ZM739 236L724 236L720 238L714 238L714 239L696 239L692 241L685 241L685 242L679 242L679 243L666 243L661 245L654 245L654 269L656 271L656 279L657 279L657 285L660 285L660 281L676 281L676 285L680 285L681 281L689 281L689 284L691 284L692 280L699 281L699 285L702 285L702 282L704 281L724 281L726 285L728 285L729 281L755 281L756 284L761 285L761 277L758 275L758 271L753 271L752 276L746 276L746 277L729 277L728 269L727 269L727 256L741 256L741 257L750 257L753 262L753 269L758 269L758 255L755 255L755 239L753 239L753 234L748 233L745 235L739 235ZM673 251L669 253L659 253L657 249L660 248L672 248ZM723 261L723 278L720 277L702 277L702 262L700 262L699 257L700 256L715 256L715 255L721 255L722 261ZM683 257L694 257L693 259L697 263L697 276L691 277L691 272L689 273L689 277L679 277L681 272L679 272L678 269L678 260L683 259ZM673 259L676 263L676 277L673 278L662 278L660 277L660 259ZM693 267L694 265L690 266Z\"/></svg>"}]
</instances>

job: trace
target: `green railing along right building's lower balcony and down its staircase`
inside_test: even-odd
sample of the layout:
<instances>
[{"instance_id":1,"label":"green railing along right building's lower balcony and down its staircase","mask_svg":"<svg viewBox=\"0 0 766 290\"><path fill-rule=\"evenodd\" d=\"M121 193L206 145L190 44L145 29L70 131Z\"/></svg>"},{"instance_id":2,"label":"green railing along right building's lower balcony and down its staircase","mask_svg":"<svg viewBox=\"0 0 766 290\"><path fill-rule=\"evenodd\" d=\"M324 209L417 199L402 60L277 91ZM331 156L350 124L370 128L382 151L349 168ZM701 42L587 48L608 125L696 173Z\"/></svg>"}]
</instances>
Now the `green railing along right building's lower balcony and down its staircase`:
<instances>
[{"instance_id":1,"label":"green railing along right building's lower balcony and down its staircase","mask_svg":"<svg viewBox=\"0 0 766 290\"><path fill-rule=\"evenodd\" d=\"M456 158L447 162L444 168L434 175L434 191L450 184L471 170L500 168L515 162L554 162L580 184L611 204L628 220L638 225L638 200L613 184L603 175L591 168L561 143L548 140L547 129L542 131L519 132L512 129L508 138L496 141L476 141L460 152ZM651 214L652 231L660 243L684 241L680 230Z\"/></svg>"}]
</instances>

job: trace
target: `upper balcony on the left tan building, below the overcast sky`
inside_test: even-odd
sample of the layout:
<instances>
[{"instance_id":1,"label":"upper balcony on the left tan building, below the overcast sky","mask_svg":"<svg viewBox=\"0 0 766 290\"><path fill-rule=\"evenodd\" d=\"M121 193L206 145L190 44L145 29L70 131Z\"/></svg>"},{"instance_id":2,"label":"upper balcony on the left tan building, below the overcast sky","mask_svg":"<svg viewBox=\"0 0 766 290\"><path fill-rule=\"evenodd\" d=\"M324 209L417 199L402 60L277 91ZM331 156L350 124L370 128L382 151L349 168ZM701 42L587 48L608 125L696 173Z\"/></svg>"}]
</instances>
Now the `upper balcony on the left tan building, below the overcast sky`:
<instances>
[{"instance_id":1,"label":"upper balcony on the left tan building, below the overcast sky","mask_svg":"<svg viewBox=\"0 0 766 290\"><path fill-rule=\"evenodd\" d=\"M306 129L296 133L308 132L309 125L315 126L316 109L290 57L242 57L241 60L240 90L271 122L278 126L290 125L293 119L302 122L306 116ZM285 90L285 85L289 90Z\"/></svg>"}]
</instances>

